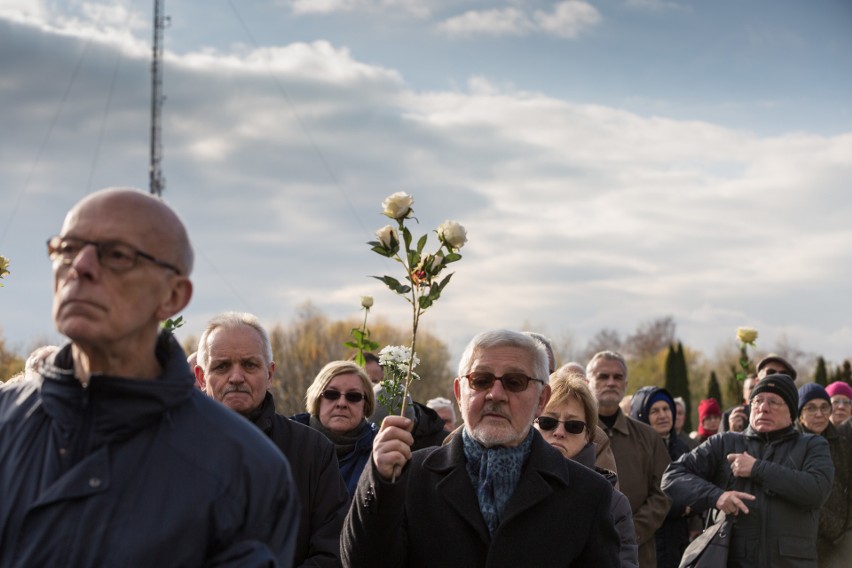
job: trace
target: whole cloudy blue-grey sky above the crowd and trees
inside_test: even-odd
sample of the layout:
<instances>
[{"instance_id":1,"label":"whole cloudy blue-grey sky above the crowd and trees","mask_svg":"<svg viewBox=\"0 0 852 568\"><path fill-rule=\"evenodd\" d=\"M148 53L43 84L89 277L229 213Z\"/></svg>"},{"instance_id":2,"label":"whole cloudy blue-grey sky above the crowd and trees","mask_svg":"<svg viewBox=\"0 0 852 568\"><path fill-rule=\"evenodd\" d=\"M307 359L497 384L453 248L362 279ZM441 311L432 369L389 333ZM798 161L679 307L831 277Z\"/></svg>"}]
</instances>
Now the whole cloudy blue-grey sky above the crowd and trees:
<instances>
[{"instance_id":1,"label":"whole cloudy blue-grey sky above the crowd and trees","mask_svg":"<svg viewBox=\"0 0 852 568\"><path fill-rule=\"evenodd\" d=\"M166 2L164 199L197 249L179 336L226 309L408 324L380 203L468 229L423 324L708 355L756 327L852 356L848 0ZM0 326L58 341L44 242L148 188L151 1L0 0ZM434 241L432 241L434 243ZM431 244L430 246L434 246Z\"/></svg>"}]
</instances>

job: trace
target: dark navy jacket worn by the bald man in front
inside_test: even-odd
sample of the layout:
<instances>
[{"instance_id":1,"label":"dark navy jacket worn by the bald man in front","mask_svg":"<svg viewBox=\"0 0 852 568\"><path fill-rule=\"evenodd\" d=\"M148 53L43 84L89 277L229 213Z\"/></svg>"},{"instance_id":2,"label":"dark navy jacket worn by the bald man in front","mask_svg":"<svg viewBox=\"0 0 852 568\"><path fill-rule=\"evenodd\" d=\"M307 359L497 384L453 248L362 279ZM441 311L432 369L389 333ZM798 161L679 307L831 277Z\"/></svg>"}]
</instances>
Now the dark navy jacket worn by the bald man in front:
<instances>
[{"instance_id":1,"label":"dark navy jacket worn by the bald man in front","mask_svg":"<svg viewBox=\"0 0 852 568\"><path fill-rule=\"evenodd\" d=\"M71 346L0 387L0 566L290 566L287 460L195 388L163 333L158 379L74 378Z\"/></svg>"}]
</instances>

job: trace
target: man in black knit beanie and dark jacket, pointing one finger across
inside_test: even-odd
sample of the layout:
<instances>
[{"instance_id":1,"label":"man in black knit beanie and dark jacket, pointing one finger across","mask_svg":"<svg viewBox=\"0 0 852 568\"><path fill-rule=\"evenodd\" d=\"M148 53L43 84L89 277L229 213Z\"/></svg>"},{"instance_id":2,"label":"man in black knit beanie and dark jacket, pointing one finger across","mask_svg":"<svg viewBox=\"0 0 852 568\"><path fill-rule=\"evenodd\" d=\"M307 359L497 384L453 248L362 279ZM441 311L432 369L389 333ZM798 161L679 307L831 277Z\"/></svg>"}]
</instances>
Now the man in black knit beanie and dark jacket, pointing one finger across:
<instances>
[{"instance_id":1,"label":"man in black knit beanie and dark jacket, pointing one finger across","mask_svg":"<svg viewBox=\"0 0 852 568\"><path fill-rule=\"evenodd\" d=\"M789 376L760 380L745 432L713 436L663 476L663 490L674 500L736 517L729 567L817 566L819 510L834 464L824 438L793 427L798 400Z\"/></svg>"}]
</instances>

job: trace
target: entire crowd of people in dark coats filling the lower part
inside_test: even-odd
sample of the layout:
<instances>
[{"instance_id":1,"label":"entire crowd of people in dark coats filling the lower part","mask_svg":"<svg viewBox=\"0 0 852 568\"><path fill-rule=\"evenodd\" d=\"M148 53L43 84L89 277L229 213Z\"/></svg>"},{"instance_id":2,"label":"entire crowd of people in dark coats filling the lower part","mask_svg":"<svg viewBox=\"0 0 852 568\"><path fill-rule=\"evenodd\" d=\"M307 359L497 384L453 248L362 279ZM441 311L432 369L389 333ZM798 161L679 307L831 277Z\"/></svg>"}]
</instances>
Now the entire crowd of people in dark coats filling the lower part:
<instances>
[{"instance_id":1,"label":"entire crowd of people in dark coats filling the lower part","mask_svg":"<svg viewBox=\"0 0 852 568\"><path fill-rule=\"evenodd\" d=\"M852 387L797 386L777 355L691 436L666 389L626 398L619 353L556 368L509 330L467 345L455 403L389 414L368 355L328 362L287 417L256 316L212 318L189 357L161 329L193 264L162 201L96 192L48 255L69 342L0 386L0 567L667 568L721 513L729 566L852 557Z\"/></svg>"}]
</instances>

